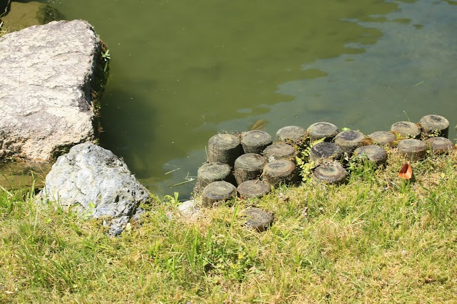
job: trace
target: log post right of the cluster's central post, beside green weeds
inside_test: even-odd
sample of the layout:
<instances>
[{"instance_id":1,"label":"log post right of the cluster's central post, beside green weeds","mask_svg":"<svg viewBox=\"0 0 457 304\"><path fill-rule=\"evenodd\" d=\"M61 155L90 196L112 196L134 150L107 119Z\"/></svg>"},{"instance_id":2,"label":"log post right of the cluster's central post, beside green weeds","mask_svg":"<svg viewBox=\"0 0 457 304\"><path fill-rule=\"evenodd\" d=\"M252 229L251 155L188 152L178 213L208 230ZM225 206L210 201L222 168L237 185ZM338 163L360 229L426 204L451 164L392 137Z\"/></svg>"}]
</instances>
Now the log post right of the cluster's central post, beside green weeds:
<instances>
[{"instance_id":1,"label":"log post right of the cluster's central post, beside green weeds","mask_svg":"<svg viewBox=\"0 0 457 304\"><path fill-rule=\"evenodd\" d=\"M263 167L263 180L272 186L279 184L296 184L298 174L293 162L286 159L277 159Z\"/></svg>"}]
</instances>

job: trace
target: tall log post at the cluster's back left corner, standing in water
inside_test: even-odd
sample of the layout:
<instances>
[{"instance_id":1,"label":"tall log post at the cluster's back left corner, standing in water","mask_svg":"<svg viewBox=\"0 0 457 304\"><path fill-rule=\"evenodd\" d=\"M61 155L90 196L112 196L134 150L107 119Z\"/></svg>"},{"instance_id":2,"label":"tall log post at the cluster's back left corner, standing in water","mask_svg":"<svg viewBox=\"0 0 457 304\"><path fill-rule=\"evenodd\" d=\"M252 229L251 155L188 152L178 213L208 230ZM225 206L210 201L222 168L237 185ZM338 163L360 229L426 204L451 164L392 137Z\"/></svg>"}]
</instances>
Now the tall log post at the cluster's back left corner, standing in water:
<instances>
[{"instance_id":1,"label":"tall log post at the cluster's back left corner, standing in water","mask_svg":"<svg viewBox=\"0 0 457 304\"><path fill-rule=\"evenodd\" d=\"M231 134L216 134L209 139L208 162L221 162L233 167L235 159L241 155L240 139Z\"/></svg>"}]
</instances>

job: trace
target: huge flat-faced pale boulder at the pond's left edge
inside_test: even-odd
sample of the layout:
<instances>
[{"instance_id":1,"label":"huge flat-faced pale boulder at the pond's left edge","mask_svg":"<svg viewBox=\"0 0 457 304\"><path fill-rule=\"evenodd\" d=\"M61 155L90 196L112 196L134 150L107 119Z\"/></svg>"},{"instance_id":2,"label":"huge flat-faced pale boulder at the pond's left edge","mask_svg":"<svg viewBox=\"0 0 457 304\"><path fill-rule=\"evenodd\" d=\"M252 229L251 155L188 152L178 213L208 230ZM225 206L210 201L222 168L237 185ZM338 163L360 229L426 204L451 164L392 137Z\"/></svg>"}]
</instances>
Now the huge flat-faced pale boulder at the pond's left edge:
<instances>
[{"instance_id":1,"label":"huge flat-faced pale boulder at the pond's left edge","mask_svg":"<svg viewBox=\"0 0 457 304\"><path fill-rule=\"evenodd\" d=\"M94 140L102 43L86 21L53 21L0 38L0 159L47 161Z\"/></svg>"}]
</instances>

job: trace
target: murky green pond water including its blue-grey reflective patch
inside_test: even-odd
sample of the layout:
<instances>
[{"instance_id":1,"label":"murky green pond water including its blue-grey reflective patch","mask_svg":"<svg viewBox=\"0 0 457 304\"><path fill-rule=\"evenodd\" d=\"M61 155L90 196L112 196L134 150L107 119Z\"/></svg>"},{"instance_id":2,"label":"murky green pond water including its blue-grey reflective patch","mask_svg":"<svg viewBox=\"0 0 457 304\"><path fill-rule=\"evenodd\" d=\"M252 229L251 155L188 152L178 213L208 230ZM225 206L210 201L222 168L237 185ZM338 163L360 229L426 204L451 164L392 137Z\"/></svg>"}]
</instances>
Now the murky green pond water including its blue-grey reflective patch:
<instances>
[{"instance_id":1,"label":"murky green pond water including its blue-grey reflective patch","mask_svg":"<svg viewBox=\"0 0 457 304\"><path fill-rule=\"evenodd\" d=\"M191 195L209 137L257 120L365 134L457 124L457 1L59 0L109 47L101 145L151 192Z\"/></svg>"}]
</instances>

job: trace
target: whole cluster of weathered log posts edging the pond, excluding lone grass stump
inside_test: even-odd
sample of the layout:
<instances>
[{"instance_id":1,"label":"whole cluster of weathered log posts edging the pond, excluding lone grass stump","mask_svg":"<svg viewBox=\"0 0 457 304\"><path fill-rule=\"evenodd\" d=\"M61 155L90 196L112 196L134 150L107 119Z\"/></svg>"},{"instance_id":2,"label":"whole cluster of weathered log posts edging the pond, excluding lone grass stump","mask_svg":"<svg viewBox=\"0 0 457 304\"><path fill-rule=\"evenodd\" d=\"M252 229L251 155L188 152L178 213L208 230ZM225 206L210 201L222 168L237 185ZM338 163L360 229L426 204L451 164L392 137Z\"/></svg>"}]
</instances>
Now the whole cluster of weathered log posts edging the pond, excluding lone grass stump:
<instances>
[{"instance_id":1,"label":"whole cluster of weathered log posts edging the pond, excluding lone grass stump","mask_svg":"<svg viewBox=\"0 0 457 304\"><path fill-rule=\"evenodd\" d=\"M216 201L237 194L262 196L271 186L296 184L296 147L306 140L314 142L324 137L325 141L313 145L309 151L309 159L316 162L313 177L329 184L340 184L347 177L343 159L352 154L363 154L381 165L387 159L382 146L392 146L396 142L398 150L411 160L423 159L428 147L435 152L450 150L453 144L446 138L448 126L446 118L427 115L417 124L396 122L390 132L373 132L368 137L355 130L339 132L329 122L317 122L307 130L297 126L283 127L276 132L275 143L268 133L259 130L241 135L214 135L209 140L209 163L198 172L196 192L202 193L205 206L212 206ZM398 141L398 138L404 139Z\"/></svg>"}]
</instances>

